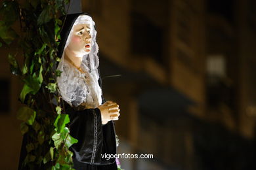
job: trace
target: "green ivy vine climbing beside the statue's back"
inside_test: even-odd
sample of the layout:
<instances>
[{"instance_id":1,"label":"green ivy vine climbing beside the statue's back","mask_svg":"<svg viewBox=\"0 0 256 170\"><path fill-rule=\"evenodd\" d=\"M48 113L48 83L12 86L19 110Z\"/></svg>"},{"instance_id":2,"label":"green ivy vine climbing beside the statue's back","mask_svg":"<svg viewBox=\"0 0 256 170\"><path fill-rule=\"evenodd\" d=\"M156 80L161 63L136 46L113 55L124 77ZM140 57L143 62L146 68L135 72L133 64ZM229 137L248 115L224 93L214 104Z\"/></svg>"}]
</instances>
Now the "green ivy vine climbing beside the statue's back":
<instances>
[{"instance_id":1,"label":"green ivy vine climbing beside the statue's back","mask_svg":"<svg viewBox=\"0 0 256 170\"><path fill-rule=\"evenodd\" d=\"M11 73L24 82L17 118L26 135L28 154L22 165L29 169L73 169L69 150L77 139L70 136L56 78L62 20L68 0L5 0L0 7L0 46L18 46L8 54ZM14 25L19 25L16 30ZM3 47L2 47L3 48ZM22 54L19 54L22 49ZM16 61L22 56L23 63ZM24 136L25 137L25 136Z\"/></svg>"}]
</instances>

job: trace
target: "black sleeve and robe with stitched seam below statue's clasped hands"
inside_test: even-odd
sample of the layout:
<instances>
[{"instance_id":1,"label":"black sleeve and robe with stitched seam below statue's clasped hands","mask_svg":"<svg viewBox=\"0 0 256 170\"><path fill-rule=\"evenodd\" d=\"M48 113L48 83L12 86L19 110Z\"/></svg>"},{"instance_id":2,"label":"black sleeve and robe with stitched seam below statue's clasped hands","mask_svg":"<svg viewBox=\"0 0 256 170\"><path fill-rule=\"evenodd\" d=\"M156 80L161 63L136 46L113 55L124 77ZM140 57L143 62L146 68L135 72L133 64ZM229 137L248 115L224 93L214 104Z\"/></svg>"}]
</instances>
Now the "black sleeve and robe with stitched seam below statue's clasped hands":
<instances>
[{"instance_id":1,"label":"black sleeve and robe with stitched seam below statue's clasped hands","mask_svg":"<svg viewBox=\"0 0 256 170\"><path fill-rule=\"evenodd\" d=\"M65 110L70 115L70 135L78 139L78 143L71 146L73 160L93 165L115 163L114 158L102 158L102 154L116 154L114 122L102 126L97 108L77 111L67 104Z\"/></svg>"}]
</instances>

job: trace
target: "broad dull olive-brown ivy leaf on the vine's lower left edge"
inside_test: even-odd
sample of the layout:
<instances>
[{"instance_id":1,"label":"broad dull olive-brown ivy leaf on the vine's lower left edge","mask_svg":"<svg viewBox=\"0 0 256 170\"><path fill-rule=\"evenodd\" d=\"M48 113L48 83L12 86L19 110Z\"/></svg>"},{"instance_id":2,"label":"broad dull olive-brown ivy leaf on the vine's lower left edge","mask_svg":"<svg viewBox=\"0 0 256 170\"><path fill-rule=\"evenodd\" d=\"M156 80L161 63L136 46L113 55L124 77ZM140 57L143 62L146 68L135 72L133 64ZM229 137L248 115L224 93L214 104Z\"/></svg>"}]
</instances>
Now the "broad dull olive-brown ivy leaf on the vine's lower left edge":
<instances>
[{"instance_id":1,"label":"broad dull olive-brown ivy leaf on the vine's lower left edge","mask_svg":"<svg viewBox=\"0 0 256 170\"><path fill-rule=\"evenodd\" d=\"M18 120L23 120L29 125L32 125L35 120L36 112L32 110L30 107L21 107L18 110L17 118Z\"/></svg>"}]
</instances>

